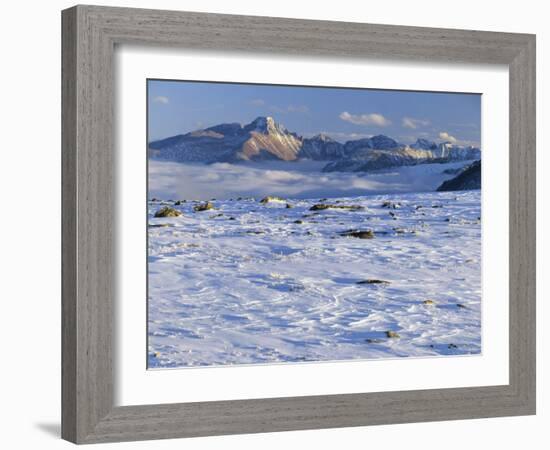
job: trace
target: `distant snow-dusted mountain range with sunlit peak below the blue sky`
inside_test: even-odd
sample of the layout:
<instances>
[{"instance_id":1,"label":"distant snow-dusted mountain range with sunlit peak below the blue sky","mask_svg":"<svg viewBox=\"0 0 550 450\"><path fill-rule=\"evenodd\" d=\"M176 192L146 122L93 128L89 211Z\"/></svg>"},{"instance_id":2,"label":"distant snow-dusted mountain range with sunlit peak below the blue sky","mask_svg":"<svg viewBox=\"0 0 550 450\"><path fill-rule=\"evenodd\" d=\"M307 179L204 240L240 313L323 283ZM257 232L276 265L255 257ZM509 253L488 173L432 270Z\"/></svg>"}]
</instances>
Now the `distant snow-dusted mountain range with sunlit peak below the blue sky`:
<instances>
[{"instance_id":1,"label":"distant snow-dusted mountain range with sunlit peak below the blue sky","mask_svg":"<svg viewBox=\"0 0 550 450\"><path fill-rule=\"evenodd\" d=\"M417 139L412 145L377 135L344 144L326 134L304 138L272 117L247 125L225 123L149 143L149 157L178 162L326 161L325 172L362 172L395 166L481 159L481 150Z\"/></svg>"}]
</instances>

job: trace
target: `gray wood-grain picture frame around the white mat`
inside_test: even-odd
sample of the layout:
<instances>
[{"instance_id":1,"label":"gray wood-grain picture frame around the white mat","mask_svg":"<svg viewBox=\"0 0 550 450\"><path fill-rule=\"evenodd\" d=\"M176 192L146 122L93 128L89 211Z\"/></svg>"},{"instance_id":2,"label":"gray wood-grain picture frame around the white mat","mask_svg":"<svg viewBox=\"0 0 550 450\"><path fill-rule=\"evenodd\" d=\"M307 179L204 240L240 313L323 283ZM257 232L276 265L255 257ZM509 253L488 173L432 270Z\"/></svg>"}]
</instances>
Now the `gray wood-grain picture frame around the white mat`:
<instances>
[{"instance_id":1,"label":"gray wood-grain picture frame around the white mat","mask_svg":"<svg viewBox=\"0 0 550 450\"><path fill-rule=\"evenodd\" d=\"M62 437L75 443L535 413L535 36L75 6L62 13ZM506 64L508 385L113 406L113 52L138 43L330 58Z\"/></svg>"}]
</instances>

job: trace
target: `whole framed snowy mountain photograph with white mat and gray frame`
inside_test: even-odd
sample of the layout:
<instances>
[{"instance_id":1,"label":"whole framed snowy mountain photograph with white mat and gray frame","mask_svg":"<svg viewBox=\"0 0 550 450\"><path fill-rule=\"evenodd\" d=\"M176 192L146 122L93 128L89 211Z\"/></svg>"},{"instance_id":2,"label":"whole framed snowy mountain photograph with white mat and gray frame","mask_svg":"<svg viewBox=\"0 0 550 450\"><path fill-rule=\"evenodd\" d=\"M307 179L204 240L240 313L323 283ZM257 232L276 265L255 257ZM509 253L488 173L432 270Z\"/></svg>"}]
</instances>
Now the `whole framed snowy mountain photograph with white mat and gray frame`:
<instances>
[{"instance_id":1,"label":"whole framed snowy mountain photograph with white mat and gray frame","mask_svg":"<svg viewBox=\"0 0 550 450\"><path fill-rule=\"evenodd\" d=\"M535 413L535 37L63 11L62 435Z\"/></svg>"}]
</instances>

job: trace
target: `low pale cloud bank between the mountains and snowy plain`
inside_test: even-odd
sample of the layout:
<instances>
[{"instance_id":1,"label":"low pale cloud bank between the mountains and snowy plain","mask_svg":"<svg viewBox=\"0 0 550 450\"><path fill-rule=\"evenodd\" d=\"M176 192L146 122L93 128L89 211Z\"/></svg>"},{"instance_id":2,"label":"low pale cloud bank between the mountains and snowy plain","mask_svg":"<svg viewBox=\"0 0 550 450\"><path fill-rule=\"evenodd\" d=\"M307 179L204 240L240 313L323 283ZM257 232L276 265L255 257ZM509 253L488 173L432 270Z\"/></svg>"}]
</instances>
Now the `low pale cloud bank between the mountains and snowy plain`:
<instances>
[{"instance_id":1,"label":"low pale cloud bank between the mountains and snowy plain","mask_svg":"<svg viewBox=\"0 0 550 450\"><path fill-rule=\"evenodd\" d=\"M446 168L465 162L399 167L378 173L322 173L324 163L182 164L149 161L149 198L228 199L279 195L288 198L352 197L434 191Z\"/></svg>"}]
</instances>

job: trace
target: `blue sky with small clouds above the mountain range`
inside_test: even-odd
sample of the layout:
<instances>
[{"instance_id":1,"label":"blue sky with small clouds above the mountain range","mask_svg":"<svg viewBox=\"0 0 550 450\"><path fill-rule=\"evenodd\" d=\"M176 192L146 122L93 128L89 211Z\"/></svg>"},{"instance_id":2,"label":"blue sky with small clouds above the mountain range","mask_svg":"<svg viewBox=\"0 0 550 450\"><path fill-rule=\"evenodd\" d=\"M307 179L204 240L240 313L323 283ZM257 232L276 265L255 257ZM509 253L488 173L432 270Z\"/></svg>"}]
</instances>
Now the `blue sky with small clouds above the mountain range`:
<instances>
[{"instance_id":1,"label":"blue sky with small clouds above the mountain range","mask_svg":"<svg viewBox=\"0 0 550 450\"><path fill-rule=\"evenodd\" d=\"M149 140L227 122L272 116L302 136L327 133L345 142L385 134L480 144L481 95L148 81Z\"/></svg>"}]
</instances>

